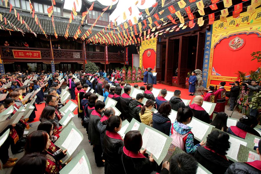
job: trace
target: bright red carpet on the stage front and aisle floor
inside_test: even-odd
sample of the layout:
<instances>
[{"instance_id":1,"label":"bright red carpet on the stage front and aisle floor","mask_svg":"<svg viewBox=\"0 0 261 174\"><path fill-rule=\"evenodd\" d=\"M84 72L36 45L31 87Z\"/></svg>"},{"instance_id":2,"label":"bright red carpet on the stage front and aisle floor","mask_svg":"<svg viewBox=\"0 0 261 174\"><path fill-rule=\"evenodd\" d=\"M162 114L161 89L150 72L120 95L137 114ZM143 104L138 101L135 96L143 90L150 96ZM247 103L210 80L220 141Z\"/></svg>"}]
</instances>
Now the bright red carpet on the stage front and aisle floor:
<instances>
[{"instance_id":1,"label":"bright red carpet on the stage front and aisle floor","mask_svg":"<svg viewBox=\"0 0 261 174\"><path fill-rule=\"evenodd\" d=\"M143 82L140 82L140 83L131 83L131 86L135 85L135 84L138 84L139 86L145 86L146 85L143 85L144 83ZM180 90L181 91L181 98L182 99L187 99L187 100L193 100L193 98L195 96L190 96L189 95L189 90L188 89L184 89L184 88L178 88L178 87L175 87L175 86L168 86L168 85L163 85L163 84L157 84L157 85L153 85L153 88L158 88L158 89L166 89L168 91L175 91L175 90ZM206 93L204 93L205 95ZM203 96L202 96L203 97ZM67 100L68 102L69 100ZM72 100L75 104L77 104L76 100ZM42 103L42 104L35 104L36 105L36 108L37 108L37 111L35 111L35 115L36 115L36 118L33 122L38 122L39 121L39 117L41 116L41 113L45 107L45 103ZM75 111L73 112L74 114L77 114L77 108L75 109Z\"/></svg>"}]
</instances>

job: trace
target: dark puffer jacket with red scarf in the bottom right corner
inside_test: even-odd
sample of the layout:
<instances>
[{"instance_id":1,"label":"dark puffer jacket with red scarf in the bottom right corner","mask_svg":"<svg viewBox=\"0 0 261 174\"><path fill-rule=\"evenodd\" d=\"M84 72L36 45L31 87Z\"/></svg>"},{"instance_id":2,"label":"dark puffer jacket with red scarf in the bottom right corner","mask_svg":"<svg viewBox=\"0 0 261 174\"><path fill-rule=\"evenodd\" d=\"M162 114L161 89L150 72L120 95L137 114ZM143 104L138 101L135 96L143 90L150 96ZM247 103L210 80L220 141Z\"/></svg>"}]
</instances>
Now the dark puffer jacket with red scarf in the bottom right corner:
<instances>
[{"instance_id":1,"label":"dark puffer jacket with red scarf in the bottom right corner","mask_svg":"<svg viewBox=\"0 0 261 174\"><path fill-rule=\"evenodd\" d=\"M256 168L253 166L258 166ZM231 164L226 170L225 174L260 174L261 171L261 161L253 161L253 162L236 162Z\"/></svg>"}]
</instances>

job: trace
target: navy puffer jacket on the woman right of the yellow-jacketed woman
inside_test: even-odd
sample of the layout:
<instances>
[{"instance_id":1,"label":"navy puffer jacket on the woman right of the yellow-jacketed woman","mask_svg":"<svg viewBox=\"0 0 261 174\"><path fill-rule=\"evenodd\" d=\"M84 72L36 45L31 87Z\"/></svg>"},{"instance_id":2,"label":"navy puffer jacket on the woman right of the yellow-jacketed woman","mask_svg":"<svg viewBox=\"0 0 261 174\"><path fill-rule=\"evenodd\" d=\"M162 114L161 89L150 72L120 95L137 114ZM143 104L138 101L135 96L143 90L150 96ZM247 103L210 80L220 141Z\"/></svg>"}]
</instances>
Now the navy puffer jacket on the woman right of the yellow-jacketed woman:
<instances>
[{"instance_id":1,"label":"navy puffer jacket on the woman right of the yellow-jacketed woman","mask_svg":"<svg viewBox=\"0 0 261 174\"><path fill-rule=\"evenodd\" d=\"M169 135L169 131L171 128L171 120L167 117L164 117L160 113L153 113L153 128L157 129L158 131Z\"/></svg>"}]
</instances>

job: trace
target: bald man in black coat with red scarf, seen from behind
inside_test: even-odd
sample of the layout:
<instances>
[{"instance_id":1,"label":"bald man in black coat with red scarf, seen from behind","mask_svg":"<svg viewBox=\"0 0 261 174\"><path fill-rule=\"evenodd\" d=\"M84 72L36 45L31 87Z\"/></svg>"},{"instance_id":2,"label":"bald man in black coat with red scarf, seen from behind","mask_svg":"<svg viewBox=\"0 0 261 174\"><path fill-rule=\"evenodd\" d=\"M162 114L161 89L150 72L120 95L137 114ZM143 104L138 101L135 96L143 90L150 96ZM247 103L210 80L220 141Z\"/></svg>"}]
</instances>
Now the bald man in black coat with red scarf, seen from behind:
<instances>
[{"instance_id":1,"label":"bald man in black coat with red scarf, seen from behind","mask_svg":"<svg viewBox=\"0 0 261 174\"><path fill-rule=\"evenodd\" d=\"M194 103L186 106L185 108L189 108L194 113L194 117L201 120L205 123L210 123L210 117L209 114L206 112L204 108L202 108L203 104L203 97L200 95L195 96Z\"/></svg>"}]
</instances>

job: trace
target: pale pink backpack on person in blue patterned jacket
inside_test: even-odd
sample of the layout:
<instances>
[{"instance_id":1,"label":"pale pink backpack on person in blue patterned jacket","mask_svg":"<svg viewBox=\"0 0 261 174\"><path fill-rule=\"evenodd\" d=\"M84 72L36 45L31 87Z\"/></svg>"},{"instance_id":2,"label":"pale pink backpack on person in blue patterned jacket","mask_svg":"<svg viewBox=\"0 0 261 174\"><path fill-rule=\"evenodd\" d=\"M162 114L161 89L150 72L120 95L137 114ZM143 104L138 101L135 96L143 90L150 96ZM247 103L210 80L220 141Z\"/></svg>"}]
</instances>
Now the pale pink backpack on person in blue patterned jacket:
<instances>
[{"instance_id":1,"label":"pale pink backpack on person in blue patterned jacket","mask_svg":"<svg viewBox=\"0 0 261 174\"><path fill-rule=\"evenodd\" d=\"M183 151L186 152L186 139L189 135L189 133L192 134L191 131L188 133L181 135L180 133L177 133L175 129L173 128L173 124L171 125L171 138L172 138L172 143L175 147L181 148Z\"/></svg>"}]
</instances>

